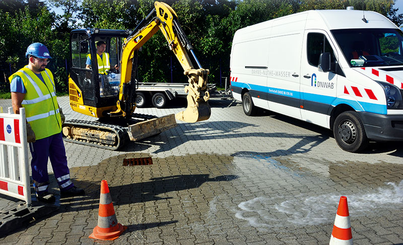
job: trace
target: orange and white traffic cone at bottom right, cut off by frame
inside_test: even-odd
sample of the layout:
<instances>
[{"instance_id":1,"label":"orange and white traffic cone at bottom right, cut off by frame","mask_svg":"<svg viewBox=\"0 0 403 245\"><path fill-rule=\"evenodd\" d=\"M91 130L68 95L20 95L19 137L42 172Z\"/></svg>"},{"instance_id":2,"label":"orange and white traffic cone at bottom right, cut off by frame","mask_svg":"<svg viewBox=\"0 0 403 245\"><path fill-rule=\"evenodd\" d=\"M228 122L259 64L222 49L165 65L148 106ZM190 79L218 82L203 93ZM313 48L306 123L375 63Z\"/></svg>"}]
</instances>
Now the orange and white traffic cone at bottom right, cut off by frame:
<instances>
[{"instance_id":1,"label":"orange and white traffic cone at bottom right, cut off by frame","mask_svg":"<svg viewBox=\"0 0 403 245\"><path fill-rule=\"evenodd\" d=\"M331 232L329 245L348 245L353 244L353 235L351 234L351 223L347 197L340 198L336 218L334 219L333 231Z\"/></svg>"}]
</instances>

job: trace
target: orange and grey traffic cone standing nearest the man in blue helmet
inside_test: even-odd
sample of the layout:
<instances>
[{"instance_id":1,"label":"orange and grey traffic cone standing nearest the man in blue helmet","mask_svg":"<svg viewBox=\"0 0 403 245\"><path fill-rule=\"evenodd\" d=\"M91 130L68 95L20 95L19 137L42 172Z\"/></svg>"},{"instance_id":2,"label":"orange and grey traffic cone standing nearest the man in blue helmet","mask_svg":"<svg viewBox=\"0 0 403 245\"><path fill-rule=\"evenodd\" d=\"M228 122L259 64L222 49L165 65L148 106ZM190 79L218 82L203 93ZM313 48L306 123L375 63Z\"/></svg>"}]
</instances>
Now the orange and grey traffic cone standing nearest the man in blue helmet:
<instances>
[{"instance_id":1,"label":"orange and grey traffic cone standing nearest the man in blue helmet","mask_svg":"<svg viewBox=\"0 0 403 245\"><path fill-rule=\"evenodd\" d=\"M109 194L108 182L101 181L101 196L99 198L98 225L95 226L90 238L114 240L119 237L127 226L117 222L112 199Z\"/></svg>"}]
</instances>

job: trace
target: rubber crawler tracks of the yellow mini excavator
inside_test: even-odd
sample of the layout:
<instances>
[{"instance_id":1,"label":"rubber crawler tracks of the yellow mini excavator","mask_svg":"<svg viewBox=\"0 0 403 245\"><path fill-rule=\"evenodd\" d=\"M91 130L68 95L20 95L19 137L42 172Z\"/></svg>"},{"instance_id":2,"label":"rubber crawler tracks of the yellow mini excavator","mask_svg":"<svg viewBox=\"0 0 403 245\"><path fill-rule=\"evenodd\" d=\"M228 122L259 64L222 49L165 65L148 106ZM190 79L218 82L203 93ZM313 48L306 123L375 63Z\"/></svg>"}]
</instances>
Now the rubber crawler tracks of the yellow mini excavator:
<instances>
[{"instance_id":1,"label":"rubber crawler tracks of the yellow mini excavator","mask_svg":"<svg viewBox=\"0 0 403 245\"><path fill-rule=\"evenodd\" d=\"M118 150L128 140L127 131L129 124L141 123L156 118L153 115L133 113L125 124L115 124L114 121L85 121L68 120L62 127L63 140L80 145L98 147L108 150Z\"/></svg>"}]
</instances>

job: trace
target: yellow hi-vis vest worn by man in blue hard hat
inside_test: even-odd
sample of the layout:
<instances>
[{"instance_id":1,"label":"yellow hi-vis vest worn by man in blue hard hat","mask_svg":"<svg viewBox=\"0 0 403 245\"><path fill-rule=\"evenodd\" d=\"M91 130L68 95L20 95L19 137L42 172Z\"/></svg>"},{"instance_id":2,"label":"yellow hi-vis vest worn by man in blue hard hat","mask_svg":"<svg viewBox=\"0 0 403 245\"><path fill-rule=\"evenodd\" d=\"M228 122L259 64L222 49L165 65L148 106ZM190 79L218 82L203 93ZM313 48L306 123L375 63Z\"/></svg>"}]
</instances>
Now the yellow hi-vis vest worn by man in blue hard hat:
<instances>
[{"instance_id":1,"label":"yellow hi-vis vest worn by man in blue hard hat","mask_svg":"<svg viewBox=\"0 0 403 245\"><path fill-rule=\"evenodd\" d=\"M61 132L59 105L56 100L56 90L53 74L49 69L41 72L46 85L25 66L10 76L10 83L15 76L21 77L27 93L22 101L28 123L35 133L35 139L40 140Z\"/></svg>"}]
</instances>

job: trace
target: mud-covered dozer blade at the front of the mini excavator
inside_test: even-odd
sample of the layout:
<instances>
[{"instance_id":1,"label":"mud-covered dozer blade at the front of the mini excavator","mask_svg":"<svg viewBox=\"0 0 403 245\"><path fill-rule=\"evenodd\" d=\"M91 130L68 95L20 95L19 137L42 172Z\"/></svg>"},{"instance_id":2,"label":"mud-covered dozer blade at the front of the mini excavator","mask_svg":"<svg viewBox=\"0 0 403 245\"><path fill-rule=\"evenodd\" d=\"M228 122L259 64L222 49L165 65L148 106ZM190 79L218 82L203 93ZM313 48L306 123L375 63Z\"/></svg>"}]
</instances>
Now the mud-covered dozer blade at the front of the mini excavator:
<instances>
[{"instance_id":1,"label":"mud-covered dozer blade at the front of the mini excavator","mask_svg":"<svg viewBox=\"0 0 403 245\"><path fill-rule=\"evenodd\" d=\"M131 141L139 141L175 128L176 126L175 115L170 114L130 125L127 134Z\"/></svg>"}]
</instances>

